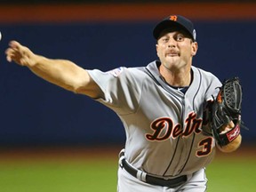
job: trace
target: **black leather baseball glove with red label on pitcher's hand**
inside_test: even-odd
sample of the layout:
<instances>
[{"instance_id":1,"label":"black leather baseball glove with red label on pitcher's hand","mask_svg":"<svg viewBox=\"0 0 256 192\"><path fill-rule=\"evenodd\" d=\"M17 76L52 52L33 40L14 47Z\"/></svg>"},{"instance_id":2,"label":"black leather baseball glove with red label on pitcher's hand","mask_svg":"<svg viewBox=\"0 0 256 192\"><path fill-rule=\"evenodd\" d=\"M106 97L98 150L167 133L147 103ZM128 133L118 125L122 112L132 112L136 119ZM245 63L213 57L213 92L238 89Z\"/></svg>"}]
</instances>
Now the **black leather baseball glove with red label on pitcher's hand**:
<instances>
[{"instance_id":1,"label":"black leather baseball glove with red label on pitcher's hand","mask_svg":"<svg viewBox=\"0 0 256 192\"><path fill-rule=\"evenodd\" d=\"M240 134L242 86L238 77L223 82L216 99L212 103L212 134L220 147L227 145ZM223 132L231 121L235 124L228 132Z\"/></svg>"}]
</instances>

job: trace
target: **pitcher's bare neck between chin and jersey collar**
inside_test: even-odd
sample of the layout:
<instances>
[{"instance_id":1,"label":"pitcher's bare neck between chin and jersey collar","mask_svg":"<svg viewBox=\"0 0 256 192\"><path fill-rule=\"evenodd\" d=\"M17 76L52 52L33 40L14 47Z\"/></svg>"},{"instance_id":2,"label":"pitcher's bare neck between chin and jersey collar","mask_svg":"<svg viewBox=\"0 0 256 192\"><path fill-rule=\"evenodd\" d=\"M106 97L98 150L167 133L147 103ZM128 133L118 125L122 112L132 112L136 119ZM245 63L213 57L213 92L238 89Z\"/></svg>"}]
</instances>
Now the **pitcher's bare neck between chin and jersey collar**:
<instances>
[{"instance_id":1,"label":"pitcher's bare neck between chin and jersey collar","mask_svg":"<svg viewBox=\"0 0 256 192\"><path fill-rule=\"evenodd\" d=\"M159 71L163 76L164 81L172 86L185 87L189 86L191 82L190 68L171 70L162 64L159 68Z\"/></svg>"}]
</instances>

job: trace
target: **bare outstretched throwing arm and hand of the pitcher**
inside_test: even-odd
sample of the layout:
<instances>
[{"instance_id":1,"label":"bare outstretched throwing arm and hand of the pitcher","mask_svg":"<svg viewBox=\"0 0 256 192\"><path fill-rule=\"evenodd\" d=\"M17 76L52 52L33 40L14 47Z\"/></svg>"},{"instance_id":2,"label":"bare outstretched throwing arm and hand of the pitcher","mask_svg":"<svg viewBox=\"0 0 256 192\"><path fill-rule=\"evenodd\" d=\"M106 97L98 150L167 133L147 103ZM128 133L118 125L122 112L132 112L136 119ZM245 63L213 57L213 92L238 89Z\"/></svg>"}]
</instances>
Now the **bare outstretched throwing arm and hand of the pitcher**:
<instances>
[{"instance_id":1,"label":"bare outstretched throwing arm and hand of the pitcher","mask_svg":"<svg viewBox=\"0 0 256 192\"><path fill-rule=\"evenodd\" d=\"M88 72L70 60L45 58L31 52L28 47L16 41L10 42L5 54L9 62L14 61L20 66L26 66L36 76L68 91L85 94L92 98L102 96L100 87L92 80Z\"/></svg>"}]
</instances>

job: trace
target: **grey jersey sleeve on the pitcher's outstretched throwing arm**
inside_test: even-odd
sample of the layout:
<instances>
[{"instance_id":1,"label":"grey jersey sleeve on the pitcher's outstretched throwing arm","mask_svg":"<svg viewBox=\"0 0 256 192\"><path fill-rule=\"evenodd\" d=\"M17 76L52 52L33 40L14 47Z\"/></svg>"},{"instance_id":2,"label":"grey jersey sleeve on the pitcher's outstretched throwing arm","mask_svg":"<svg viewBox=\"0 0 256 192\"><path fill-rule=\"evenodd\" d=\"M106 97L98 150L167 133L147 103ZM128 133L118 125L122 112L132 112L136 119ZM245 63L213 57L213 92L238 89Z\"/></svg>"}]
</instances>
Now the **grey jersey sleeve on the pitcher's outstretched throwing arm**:
<instances>
[{"instance_id":1,"label":"grey jersey sleeve on the pitcher's outstretched throwing arm","mask_svg":"<svg viewBox=\"0 0 256 192\"><path fill-rule=\"evenodd\" d=\"M132 68L116 68L108 72L87 70L100 86L104 97L97 99L118 115L134 113L140 104L142 81ZM135 73L134 73L135 72Z\"/></svg>"}]
</instances>

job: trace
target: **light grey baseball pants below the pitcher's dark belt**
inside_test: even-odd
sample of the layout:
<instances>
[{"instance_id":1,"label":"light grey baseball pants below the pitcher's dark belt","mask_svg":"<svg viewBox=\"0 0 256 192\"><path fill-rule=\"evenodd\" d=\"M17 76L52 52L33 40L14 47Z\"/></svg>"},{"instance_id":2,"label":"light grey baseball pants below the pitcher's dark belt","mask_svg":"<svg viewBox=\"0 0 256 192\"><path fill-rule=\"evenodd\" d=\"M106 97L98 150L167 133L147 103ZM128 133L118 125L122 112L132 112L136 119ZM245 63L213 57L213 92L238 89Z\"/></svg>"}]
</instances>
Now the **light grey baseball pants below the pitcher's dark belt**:
<instances>
[{"instance_id":1,"label":"light grey baseball pants below the pitcher's dark belt","mask_svg":"<svg viewBox=\"0 0 256 192\"><path fill-rule=\"evenodd\" d=\"M145 183L119 167L117 192L204 192L206 191L206 183L204 168L193 173L188 181L178 188L168 188Z\"/></svg>"}]
</instances>

